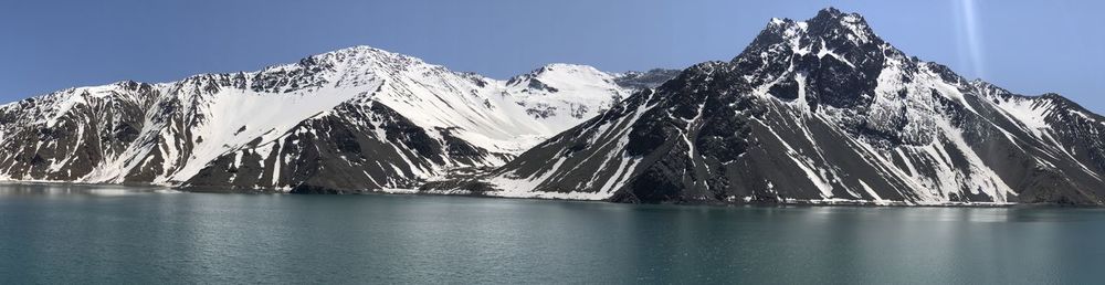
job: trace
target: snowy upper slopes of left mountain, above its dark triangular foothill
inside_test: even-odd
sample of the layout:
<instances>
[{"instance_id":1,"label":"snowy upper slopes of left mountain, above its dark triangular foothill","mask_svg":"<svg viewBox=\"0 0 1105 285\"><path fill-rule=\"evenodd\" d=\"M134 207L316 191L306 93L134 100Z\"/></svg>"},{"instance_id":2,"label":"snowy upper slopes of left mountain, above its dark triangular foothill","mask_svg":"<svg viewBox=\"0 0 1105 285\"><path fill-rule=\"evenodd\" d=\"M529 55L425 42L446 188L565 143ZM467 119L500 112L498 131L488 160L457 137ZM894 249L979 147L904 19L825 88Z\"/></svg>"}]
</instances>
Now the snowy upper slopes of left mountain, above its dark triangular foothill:
<instances>
[{"instance_id":1,"label":"snowy upper slopes of left mountain, above its dark triangular foothill","mask_svg":"<svg viewBox=\"0 0 1105 285\"><path fill-rule=\"evenodd\" d=\"M198 74L158 84L125 81L20 101L0 106L0 123L6 123L0 142L17 130L106 124L110 126L96 127L117 131L125 144L99 154L104 160L84 170L65 172L65 179L140 176L172 183L224 154L284 138L308 119L345 114L339 106L375 107L396 112L441 141L485 151L487 162L502 162L628 96L633 88L622 87L615 77L587 65L549 64L516 76L520 84L512 85L361 45L254 72ZM56 137L84 134L76 131ZM78 160L84 161L73 161ZM50 171L66 161L59 158Z\"/></svg>"}]
</instances>

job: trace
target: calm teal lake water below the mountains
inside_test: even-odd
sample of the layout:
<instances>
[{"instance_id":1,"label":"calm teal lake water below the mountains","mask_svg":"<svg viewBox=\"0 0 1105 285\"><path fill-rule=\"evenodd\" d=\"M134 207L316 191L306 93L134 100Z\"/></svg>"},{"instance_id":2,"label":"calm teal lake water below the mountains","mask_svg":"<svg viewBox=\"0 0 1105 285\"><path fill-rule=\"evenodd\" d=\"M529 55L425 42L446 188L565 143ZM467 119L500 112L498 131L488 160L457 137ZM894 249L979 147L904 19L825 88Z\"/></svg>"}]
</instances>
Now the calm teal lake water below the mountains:
<instances>
[{"instance_id":1,"label":"calm teal lake water below the mountains","mask_svg":"<svg viewBox=\"0 0 1105 285\"><path fill-rule=\"evenodd\" d=\"M0 184L0 284L1096 283L1105 210Z\"/></svg>"}]
</instances>

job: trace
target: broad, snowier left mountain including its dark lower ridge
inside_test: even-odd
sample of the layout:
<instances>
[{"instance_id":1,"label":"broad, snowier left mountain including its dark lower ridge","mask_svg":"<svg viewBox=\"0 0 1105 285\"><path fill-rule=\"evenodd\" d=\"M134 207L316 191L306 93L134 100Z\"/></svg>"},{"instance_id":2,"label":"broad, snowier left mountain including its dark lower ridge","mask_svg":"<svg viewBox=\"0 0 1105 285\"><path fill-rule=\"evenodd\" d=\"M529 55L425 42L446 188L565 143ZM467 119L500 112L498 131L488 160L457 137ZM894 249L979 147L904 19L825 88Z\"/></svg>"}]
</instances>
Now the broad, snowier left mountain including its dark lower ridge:
<instances>
[{"instance_id":1,"label":"broad, snowier left mountain including its dark lower ridge","mask_svg":"<svg viewBox=\"0 0 1105 285\"><path fill-rule=\"evenodd\" d=\"M356 46L257 72L70 88L0 106L0 179L402 187L503 165L642 86L618 83L627 76L551 64L497 81Z\"/></svg>"}]
</instances>

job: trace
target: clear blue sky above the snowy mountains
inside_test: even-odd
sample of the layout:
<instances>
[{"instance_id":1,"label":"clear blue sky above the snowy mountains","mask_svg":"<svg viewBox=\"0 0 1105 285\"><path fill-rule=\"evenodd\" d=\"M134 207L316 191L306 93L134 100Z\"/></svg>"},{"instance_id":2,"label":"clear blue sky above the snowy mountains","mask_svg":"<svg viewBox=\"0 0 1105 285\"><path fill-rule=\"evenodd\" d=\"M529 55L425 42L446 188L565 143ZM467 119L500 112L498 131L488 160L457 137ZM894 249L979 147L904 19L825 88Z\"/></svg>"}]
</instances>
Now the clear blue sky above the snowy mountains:
<instances>
[{"instance_id":1,"label":"clear blue sky above the snowy mountains","mask_svg":"<svg viewBox=\"0 0 1105 285\"><path fill-rule=\"evenodd\" d=\"M497 78L728 60L772 17L833 6L898 49L1105 113L1105 1L2 1L0 102L122 80L253 71L351 45Z\"/></svg>"}]
</instances>

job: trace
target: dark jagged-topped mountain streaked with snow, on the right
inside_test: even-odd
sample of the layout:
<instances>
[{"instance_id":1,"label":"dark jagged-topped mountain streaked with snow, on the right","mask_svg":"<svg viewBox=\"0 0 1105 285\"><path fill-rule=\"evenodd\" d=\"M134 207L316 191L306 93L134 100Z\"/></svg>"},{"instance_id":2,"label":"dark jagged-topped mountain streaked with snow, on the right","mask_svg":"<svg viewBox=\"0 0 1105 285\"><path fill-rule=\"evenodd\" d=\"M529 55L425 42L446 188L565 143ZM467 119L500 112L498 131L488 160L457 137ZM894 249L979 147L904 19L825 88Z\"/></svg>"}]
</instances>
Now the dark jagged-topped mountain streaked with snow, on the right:
<instances>
[{"instance_id":1,"label":"dark jagged-topped mountain streaked with snow, on the right","mask_svg":"<svg viewBox=\"0 0 1105 285\"><path fill-rule=\"evenodd\" d=\"M1105 118L907 56L855 13L774 19L456 182L501 197L642 203L1105 203Z\"/></svg>"}]
</instances>

